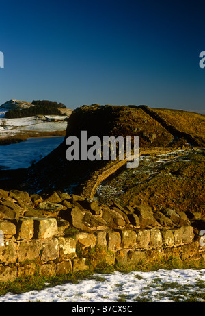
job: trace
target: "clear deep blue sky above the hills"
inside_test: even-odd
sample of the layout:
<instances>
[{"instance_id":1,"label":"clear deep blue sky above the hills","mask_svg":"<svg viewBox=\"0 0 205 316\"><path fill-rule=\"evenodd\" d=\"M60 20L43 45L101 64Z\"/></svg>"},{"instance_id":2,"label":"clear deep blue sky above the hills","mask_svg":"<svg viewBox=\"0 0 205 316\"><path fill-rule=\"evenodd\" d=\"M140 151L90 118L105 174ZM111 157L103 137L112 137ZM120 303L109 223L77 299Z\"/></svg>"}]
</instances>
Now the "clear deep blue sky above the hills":
<instances>
[{"instance_id":1,"label":"clear deep blue sky above the hills","mask_svg":"<svg viewBox=\"0 0 205 316\"><path fill-rule=\"evenodd\" d=\"M1 1L0 104L49 99L203 112L204 1ZM205 113L205 112L204 112Z\"/></svg>"}]
</instances>

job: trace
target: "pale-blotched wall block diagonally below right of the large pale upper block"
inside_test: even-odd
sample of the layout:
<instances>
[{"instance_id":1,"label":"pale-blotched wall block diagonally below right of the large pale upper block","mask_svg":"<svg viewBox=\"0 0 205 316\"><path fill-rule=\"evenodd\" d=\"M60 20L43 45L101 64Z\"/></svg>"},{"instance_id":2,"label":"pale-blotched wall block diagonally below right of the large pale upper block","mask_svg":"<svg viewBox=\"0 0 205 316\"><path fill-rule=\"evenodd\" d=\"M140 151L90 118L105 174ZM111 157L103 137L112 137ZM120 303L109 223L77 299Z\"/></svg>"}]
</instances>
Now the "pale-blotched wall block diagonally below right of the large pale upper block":
<instances>
[{"instance_id":1,"label":"pale-blotched wall block diagonally below right of the large pale upper block","mask_svg":"<svg viewBox=\"0 0 205 316\"><path fill-rule=\"evenodd\" d=\"M76 241L71 237L60 237L59 241L59 258L63 260L72 259L76 252Z\"/></svg>"}]
</instances>

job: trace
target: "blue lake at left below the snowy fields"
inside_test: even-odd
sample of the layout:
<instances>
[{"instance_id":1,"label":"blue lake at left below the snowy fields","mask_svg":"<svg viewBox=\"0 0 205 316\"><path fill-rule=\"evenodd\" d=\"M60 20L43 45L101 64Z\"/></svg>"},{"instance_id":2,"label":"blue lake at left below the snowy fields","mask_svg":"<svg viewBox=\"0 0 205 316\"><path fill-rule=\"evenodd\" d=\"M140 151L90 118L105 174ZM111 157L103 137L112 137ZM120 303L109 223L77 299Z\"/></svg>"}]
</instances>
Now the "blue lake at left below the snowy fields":
<instances>
[{"instance_id":1,"label":"blue lake at left below the snowy fields","mask_svg":"<svg viewBox=\"0 0 205 316\"><path fill-rule=\"evenodd\" d=\"M30 167L33 162L57 148L64 137L29 138L16 144L0 146L0 170Z\"/></svg>"}]
</instances>

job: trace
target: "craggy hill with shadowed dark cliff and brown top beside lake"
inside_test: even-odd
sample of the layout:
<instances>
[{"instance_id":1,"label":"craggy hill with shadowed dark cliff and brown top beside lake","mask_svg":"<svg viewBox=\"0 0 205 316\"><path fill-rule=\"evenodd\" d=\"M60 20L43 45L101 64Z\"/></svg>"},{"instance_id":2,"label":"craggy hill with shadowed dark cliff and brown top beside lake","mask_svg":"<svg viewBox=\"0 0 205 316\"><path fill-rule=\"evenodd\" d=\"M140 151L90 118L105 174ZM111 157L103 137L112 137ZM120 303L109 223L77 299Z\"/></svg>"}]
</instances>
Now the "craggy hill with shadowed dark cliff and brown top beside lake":
<instances>
[{"instance_id":1,"label":"craggy hill with shadowed dark cliff and brown top beside lake","mask_svg":"<svg viewBox=\"0 0 205 316\"><path fill-rule=\"evenodd\" d=\"M72 112L66 137L81 130L90 136L139 136L140 154L157 154L176 149L204 147L205 117L202 114L148 108L148 106L82 106ZM29 168L22 188L35 191L61 189L94 197L96 181L125 165L122 161L66 160L66 143ZM99 178L100 177L100 178Z\"/></svg>"}]
</instances>

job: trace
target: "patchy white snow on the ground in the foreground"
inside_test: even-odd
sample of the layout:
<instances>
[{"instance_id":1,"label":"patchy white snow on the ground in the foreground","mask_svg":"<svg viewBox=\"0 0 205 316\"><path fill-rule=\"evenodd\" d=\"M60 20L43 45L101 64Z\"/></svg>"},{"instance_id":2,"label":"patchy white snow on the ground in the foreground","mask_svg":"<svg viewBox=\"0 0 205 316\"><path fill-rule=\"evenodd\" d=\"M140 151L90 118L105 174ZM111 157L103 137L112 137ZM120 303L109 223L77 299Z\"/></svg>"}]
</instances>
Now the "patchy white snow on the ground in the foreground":
<instances>
[{"instance_id":1,"label":"patchy white snow on the ground in the foreground","mask_svg":"<svg viewBox=\"0 0 205 316\"><path fill-rule=\"evenodd\" d=\"M133 271L94 274L78 284L48 287L23 294L8 293L0 302L184 302L191 295L202 302L205 269Z\"/></svg>"}]
</instances>

